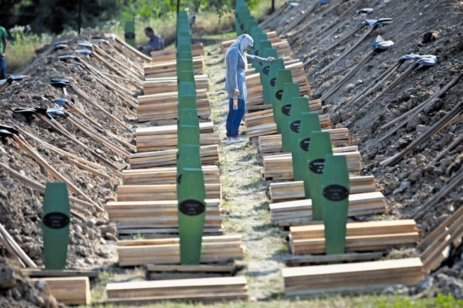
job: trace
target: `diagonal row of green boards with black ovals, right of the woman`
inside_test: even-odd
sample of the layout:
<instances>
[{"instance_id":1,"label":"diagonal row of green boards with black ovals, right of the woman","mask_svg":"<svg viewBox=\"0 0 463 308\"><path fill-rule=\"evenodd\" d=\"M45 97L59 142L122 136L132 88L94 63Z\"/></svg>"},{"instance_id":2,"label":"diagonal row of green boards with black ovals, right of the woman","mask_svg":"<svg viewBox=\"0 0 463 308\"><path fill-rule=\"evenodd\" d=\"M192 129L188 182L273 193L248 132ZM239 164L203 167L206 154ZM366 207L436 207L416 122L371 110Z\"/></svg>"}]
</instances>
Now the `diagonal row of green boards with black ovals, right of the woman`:
<instances>
[{"instance_id":1,"label":"diagonal row of green boards with black ovals, right of the woman","mask_svg":"<svg viewBox=\"0 0 463 308\"><path fill-rule=\"evenodd\" d=\"M309 112L307 97L293 83L290 70L271 48L264 29L250 14L244 1L236 2L236 35L249 34L254 45L249 53L275 57L272 63L253 62L260 73L264 104L271 104L283 152L293 156L295 181L304 181L306 198L312 200L315 221L325 225L326 253L344 253L349 205L349 173L344 156L333 156L330 135L321 132L317 113Z\"/></svg>"}]
</instances>

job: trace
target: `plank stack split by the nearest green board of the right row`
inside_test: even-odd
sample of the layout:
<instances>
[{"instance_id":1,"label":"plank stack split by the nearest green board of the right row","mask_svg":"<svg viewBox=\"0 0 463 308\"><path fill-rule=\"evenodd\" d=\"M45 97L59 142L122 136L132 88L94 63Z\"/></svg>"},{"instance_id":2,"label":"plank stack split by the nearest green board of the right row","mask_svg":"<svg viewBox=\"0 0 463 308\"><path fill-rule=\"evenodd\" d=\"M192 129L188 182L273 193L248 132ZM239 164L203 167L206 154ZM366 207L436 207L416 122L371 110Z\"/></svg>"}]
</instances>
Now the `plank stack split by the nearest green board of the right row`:
<instances>
[{"instance_id":1,"label":"plank stack split by the nearest green board of the right row","mask_svg":"<svg viewBox=\"0 0 463 308\"><path fill-rule=\"evenodd\" d=\"M377 251L392 247L415 246L420 237L412 219L347 223L346 251ZM295 255L325 253L325 226L290 227L290 248Z\"/></svg>"}]
</instances>

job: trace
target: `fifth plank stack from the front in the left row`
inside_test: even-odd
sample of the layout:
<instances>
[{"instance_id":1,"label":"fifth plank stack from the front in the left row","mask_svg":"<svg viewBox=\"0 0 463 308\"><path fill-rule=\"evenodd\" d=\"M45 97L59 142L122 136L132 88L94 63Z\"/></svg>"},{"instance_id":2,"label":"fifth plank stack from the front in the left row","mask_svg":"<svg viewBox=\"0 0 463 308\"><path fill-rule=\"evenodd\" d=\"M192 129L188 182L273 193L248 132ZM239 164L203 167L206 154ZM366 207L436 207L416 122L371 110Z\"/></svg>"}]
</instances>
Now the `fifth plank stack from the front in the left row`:
<instances>
[{"instance_id":1,"label":"fifth plank stack from the front in the left row","mask_svg":"<svg viewBox=\"0 0 463 308\"><path fill-rule=\"evenodd\" d=\"M202 166L204 183L220 183L219 167ZM123 185L156 185L177 183L176 167L159 167L122 171Z\"/></svg>"}]
</instances>

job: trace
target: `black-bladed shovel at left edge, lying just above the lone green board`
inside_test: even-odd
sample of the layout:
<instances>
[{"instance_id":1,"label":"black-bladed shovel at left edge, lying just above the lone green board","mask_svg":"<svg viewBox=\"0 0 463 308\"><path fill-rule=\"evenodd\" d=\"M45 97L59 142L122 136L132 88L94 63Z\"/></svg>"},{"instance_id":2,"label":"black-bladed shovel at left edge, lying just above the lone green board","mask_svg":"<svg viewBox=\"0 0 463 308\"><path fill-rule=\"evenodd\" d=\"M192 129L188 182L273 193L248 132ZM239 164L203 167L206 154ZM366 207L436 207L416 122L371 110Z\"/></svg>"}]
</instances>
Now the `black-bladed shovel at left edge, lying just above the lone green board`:
<instances>
[{"instance_id":1,"label":"black-bladed shovel at left edge, lying just above the lone green board","mask_svg":"<svg viewBox=\"0 0 463 308\"><path fill-rule=\"evenodd\" d=\"M0 137L2 140L6 138L12 138L20 148L22 148L23 151L25 151L27 154L29 154L36 162L39 163L44 169L46 169L47 172L49 172L55 179L61 182L67 183L67 186L69 187L70 190L74 191L74 193L77 193L84 197L90 204L93 204L93 207L99 209L100 211L103 211L103 209L96 204L88 195L83 193L79 188L74 186L73 183L71 183L68 179L65 178L65 176L62 176L58 171L56 171L53 167L51 167L46 160L44 160L39 153L36 153L36 151L33 150L32 146L27 143L26 139L22 137L19 133L19 130L16 129L15 127L11 127L9 125L0 125Z\"/></svg>"}]
</instances>

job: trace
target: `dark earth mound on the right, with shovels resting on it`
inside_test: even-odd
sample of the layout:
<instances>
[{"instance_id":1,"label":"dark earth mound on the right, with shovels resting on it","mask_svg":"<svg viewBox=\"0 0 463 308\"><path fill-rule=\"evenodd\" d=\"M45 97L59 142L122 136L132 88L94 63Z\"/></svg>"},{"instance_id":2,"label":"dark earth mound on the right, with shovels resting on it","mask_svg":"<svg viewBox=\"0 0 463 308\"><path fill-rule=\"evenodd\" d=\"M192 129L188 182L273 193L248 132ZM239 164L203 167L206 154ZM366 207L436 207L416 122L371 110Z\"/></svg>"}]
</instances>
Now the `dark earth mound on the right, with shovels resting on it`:
<instances>
[{"instance_id":1,"label":"dark earth mound on the right, with shovels resting on it","mask_svg":"<svg viewBox=\"0 0 463 308\"><path fill-rule=\"evenodd\" d=\"M450 111L461 108L463 94L461 80L445 94L434 99L420 113L410 117L395 134L384 137L394 126L384 128L382 126L432 98L451 80L461 76L463 4L461 1L452 0L360 0L342 1L333 10L328 10L326 9L328 5L318 4L313 7L314 1L307 2L288 8L268 25L277 34L288 38L295 51L295 57L304 62L307 78L311 88L314 89L310 98L323 99L325 112L331 115L335 127L349 127L353 144L358 145L362 153L361 173L372 174L377 179L382 192L387 197L389 216L410 218L446 183L457 179L457 176L463 172L461 110L448 125L442 127L432 137L424 139L403 159L389 165L384 164L384 160L403 151L412 141L426 134ZM342 15L349 8L351 8L350 13ZM373 12L354 13L361 8L373 8ZM300 23L297 31L286 27L297 16L309 10L311 10L309 17ZM393 21L379 27L360 26L366 19L380 20L381 18L392 18ZM330 29L335 28L335 22L339 24L342 20L349 22L346 22L335 34L328 36ZM329 25L333 27L329 28ZM355 46L356 40L368 29L372 30L371 33ZM394 41L394 45L383 52L377 52L351 77L346 78L339 90L328 97L323 97L372 52L373 41L378 35L384 40ZM347 39L330 48L342 38ZM349 48L352 48L351 52L339 59L342 52ZM403 62L384 84L376 87L362 99L353 102L365 87L377 83L382 78L382 73L398 64L401 57L410 54L436 55L437 63L434 66L418 66L412 61ZM323 69L333 60L335 64L329 69ZM406 75L404 73L406 70L410 70L411 73ZM401 74L405 75L401 82L385 91L382 97L376 98L377 94L387 89ZM452 147L445 152L450 145ZM443 156L438 158L441 153ZM382 165L380 162L383 162ZM442 195L433 207L417 218L422 237L428 235L462 206L462 193L463 186L460 181L456 188ZM452 263L450 272L455 271L452 276L457 276L461 283L462 263L461 255L457 250L452 251L450 260Z\"/></svg>"}]
</instances>

